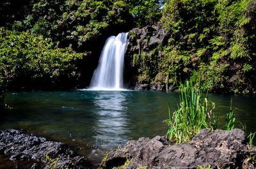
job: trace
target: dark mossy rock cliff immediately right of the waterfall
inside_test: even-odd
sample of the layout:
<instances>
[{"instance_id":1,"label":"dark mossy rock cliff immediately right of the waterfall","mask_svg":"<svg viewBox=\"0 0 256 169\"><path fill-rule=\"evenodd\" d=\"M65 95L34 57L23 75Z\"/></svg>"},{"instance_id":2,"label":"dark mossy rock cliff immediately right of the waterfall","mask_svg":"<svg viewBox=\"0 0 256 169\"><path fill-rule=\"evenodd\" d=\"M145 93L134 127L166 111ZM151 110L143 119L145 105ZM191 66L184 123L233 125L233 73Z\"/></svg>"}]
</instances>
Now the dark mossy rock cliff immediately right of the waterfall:
<instances>
[{"instance_id":1,"label":"dark mossy rock cliff immediately right of the waterfall","mask_svg":"<svg viewBox=\"0 0 256 169\"><path fill-rule=\"evenodd\" d=\"M168 42L170 33L162 26L134 28L129 32L129 45L125 53L124 80L127 87L139 90L164 89L164 70L159 61L164 59L159 47Z\"/></svg>"}]
</instances>

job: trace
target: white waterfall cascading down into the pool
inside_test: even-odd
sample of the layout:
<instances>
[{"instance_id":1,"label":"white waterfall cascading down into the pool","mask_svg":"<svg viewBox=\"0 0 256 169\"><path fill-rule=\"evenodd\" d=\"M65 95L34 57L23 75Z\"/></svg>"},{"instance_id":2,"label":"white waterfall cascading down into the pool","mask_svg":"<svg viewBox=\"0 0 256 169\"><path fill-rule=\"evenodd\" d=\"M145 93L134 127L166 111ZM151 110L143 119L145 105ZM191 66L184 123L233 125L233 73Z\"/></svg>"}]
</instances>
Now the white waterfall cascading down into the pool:
<instances>
[{"instance_id":1,"label":"white waterfall cascading down into the pool","mask_svg":"<svg viewBox=\"0 0 256 169\"><path fill-rule=\"evenodd\" d=\"M110 36L102 49L99 65L93 73L90 89L122 90L124 54L128 33Z\"/></svg>"}]
</instances>

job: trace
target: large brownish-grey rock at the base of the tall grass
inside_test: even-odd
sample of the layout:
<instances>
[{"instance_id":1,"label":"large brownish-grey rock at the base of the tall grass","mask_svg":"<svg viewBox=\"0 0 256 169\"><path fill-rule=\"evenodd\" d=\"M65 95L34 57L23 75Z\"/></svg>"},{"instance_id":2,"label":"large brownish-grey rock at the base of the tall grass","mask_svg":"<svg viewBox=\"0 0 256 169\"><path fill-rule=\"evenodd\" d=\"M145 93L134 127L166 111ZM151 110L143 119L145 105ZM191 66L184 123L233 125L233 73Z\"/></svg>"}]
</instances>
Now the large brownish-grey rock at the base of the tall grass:
<instances>
[{"instance_id":1,"label":"large brownish-grey rock at the base of the tall grass","mask_svg":"<svg viewBox=\"0 0 256 169\"><path fill-rule=\"evenodd\" d=\"M254 149L254 148L253 148ZM251 154L255 151L251 150ZM203 129L189 143L173 144L156 136L129 141L107 154L102 168L254 168L246 135L241 129L232 131ZM118 161L118 163L117 163Z\"/></svg>"}]
</instances>

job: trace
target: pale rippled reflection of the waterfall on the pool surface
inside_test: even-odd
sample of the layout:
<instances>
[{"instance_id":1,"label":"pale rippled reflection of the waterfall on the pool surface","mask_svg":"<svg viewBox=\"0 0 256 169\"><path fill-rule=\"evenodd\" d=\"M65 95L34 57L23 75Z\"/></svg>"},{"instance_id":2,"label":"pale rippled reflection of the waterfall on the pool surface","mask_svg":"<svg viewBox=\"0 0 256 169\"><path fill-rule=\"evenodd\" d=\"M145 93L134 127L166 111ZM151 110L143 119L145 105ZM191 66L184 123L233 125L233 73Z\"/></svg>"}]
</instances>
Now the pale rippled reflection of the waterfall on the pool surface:
<instances>
[{"instance_id":1,"label":"pale rippled reflection of the waterfall on the pool surface","mask_svg":"<svg viewBox=\"0 0 256 169\"><path fill-rule=\"evenodd\" d=\"M103 149L127 141L129 119L125 97L122 91L99 91L94 98L97 122L93 138Z\"/></svg>"}]
</instances>

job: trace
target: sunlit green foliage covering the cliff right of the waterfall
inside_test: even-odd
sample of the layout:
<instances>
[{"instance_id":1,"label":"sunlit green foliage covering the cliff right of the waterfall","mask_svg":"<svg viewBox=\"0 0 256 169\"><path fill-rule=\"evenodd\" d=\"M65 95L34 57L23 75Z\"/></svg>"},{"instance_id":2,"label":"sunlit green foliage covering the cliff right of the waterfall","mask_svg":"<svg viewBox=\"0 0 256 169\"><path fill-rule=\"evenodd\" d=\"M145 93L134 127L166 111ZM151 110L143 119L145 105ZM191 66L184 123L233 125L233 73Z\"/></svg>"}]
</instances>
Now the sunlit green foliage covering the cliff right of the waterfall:
<instances>
[{"instance_id":1,"label":"sunlit green foliage covering the cliff right of the waterfall","mask_svg":"<svg viewBox=\"0 0 256 169\"><path fill-rule=\"evenodd\" d=\"M204 92L252 93L255 11L252 0L166 1L159 23L170 32L168 42L134 54L138 77L154 84L161 74L166 84L191 80Z\"/></svg>"}]
</instances>

